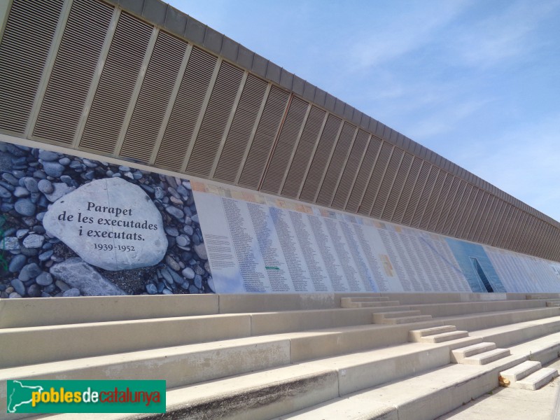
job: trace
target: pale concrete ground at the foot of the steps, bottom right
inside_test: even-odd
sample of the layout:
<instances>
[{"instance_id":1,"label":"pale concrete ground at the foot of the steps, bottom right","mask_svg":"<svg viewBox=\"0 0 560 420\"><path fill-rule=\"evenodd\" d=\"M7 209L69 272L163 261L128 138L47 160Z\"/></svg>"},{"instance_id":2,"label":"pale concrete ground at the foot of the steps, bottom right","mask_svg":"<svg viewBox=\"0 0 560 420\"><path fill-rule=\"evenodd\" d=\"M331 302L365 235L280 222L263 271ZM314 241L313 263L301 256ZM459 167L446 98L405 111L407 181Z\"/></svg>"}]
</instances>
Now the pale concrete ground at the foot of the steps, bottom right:
<instances>
[{"instance_id":1,"label":"pale concrete ground at the foot of the steps, bottom right","mask_svg":"<svg viewBox=\"0 0 560 420\"><path fill-rule=\"evenodd\" d=\"M560 370L560 359L546 367ZM436 420L560 420L560 377L538 391L496 388Z\"/></svg>"}]
</instances>

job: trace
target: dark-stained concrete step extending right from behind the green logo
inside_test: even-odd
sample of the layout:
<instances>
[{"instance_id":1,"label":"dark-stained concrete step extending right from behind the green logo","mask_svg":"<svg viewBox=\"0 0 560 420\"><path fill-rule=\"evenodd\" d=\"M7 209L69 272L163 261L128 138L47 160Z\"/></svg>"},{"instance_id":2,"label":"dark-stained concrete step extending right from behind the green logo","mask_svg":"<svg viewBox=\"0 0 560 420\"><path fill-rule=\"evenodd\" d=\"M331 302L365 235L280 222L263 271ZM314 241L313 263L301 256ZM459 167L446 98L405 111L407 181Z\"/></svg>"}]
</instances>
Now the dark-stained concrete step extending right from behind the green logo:
<instances>
[{"instance_id":1,"label":"dark-stained concrete step extending right from behind the green logo","mask_svg":"<svg viewBox=\"0 0 560 420\"><path fill-rule=\"evenodd\" d=\"M407 343L175 387L167 392L167 412L188 419L269 419L448 363L446 346L421 349ZM143 375L138 366L134 378Z\"/></svg>"}]
</instances>

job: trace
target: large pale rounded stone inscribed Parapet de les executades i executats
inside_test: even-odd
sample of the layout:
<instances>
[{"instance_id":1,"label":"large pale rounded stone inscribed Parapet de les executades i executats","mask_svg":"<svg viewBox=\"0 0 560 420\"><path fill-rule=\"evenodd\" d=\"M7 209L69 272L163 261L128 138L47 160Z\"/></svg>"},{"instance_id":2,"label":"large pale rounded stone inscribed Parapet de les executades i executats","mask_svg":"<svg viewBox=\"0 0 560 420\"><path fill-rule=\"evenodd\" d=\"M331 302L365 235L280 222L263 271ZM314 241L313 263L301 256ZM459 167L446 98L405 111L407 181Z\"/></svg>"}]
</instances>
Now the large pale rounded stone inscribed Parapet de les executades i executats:
<instances>
[{"instance_id":1,"label":"large pale rounded stone inscribed Parapet de les executades i executats","mask_svg":"<svg viewBox=\"0 0 560 420\"><path fill-rule=\"evenodd\" d=\"M167 251L160 211L144 190L120 178L64 195L50 206L43 226L85 262L112 271L150 267Z\"/></svg>"}]
</instances>

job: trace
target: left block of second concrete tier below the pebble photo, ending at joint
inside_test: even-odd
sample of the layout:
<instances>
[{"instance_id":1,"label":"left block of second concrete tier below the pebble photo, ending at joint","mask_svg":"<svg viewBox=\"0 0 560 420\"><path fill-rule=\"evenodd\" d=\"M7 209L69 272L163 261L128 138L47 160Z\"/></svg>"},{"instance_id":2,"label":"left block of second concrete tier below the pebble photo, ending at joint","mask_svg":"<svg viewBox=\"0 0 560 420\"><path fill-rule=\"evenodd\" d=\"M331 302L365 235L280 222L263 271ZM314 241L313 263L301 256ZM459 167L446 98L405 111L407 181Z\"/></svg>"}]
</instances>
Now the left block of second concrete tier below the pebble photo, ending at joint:
<instances>
[{"instance_id":1,"label":"left block of second concrete tier below the pebble photo, ending at joint","mask_svg":"<svg viewBox=\"0 0 560 420\"><path fill-rule=\"evenodd\" d=\"M0 331L0 367L125 353L251 335L248 315L190 316ZM38 345L40 343L40 345Z\"/></svg>"}]
</instances>

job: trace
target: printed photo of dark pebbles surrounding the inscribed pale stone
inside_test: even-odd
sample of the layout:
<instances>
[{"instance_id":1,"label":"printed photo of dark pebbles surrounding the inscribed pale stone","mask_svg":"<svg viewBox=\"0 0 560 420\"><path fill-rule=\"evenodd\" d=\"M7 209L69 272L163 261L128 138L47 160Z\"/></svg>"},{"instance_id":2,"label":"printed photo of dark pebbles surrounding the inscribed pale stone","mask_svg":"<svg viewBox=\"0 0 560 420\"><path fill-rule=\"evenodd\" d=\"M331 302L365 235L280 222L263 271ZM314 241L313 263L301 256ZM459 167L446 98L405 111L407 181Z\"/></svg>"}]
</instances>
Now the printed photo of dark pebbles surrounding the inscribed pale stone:
<instances>
[{"instance_id":1,"label":"printed photo of dark pebbles surrounding the inscribed pale stone","mask_svg":"<svg viewBox=\"0 0 560 420\"><path fill-rule=\"evenodd\" d=\"M189 181L3 142L0 173L0 297L214 293ZM94 186L101 186L97 193L92 193ZM113 201L133 204L99 204L96 194L102 197L109 186ZM105 230L117 239L107 239L102 228L94 229L97 225L61 228L61 220L77 213L71 203L80 199L91 210L78 213L80 222L85 213L94 214L95 223L113 222ZM88 238L101 234L99 244ZM144 254L130 252L135 243ZM113 260L99 255L113 255Z\"/></svg>"}]
</instances>

